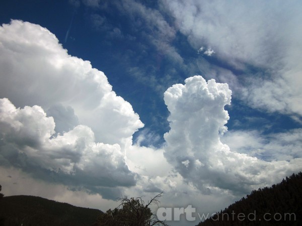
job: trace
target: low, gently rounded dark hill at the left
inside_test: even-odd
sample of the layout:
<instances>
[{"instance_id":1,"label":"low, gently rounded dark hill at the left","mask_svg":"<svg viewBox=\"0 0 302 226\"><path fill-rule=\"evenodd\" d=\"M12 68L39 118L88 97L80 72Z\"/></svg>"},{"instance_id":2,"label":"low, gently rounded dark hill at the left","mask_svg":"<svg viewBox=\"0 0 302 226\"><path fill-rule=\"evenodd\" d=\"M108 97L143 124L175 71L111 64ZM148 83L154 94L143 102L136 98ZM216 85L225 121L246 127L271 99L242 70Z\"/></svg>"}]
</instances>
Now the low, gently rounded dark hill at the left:
<instances>
[{"instance_id":1,"label":"low, gently rounded dark hill at the left","mask_svg":"<svg viewBox=\"0 0 302 226\"><path fill-rule=\"evenodd\" d=\"M100 213L98 209L36 196L16 195L0 199L0 225L92 225Z\"/></svg>"}]
</instances>

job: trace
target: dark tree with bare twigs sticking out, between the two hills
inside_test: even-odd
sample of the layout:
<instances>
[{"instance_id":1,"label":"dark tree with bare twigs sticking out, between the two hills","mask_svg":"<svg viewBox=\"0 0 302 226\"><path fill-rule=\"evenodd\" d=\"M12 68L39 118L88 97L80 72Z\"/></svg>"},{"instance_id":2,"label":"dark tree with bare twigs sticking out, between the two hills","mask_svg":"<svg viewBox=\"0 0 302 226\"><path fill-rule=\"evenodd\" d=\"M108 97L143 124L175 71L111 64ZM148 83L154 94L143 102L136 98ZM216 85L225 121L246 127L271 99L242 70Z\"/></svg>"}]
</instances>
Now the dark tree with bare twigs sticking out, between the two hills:
<instances>
[{"instance_id":1,"label":"dark tree with bare twigs sticking out, between the two hills","mask_svg":"<svg viewBox=\"0 0 302 226\"><path fill-rule=\"evenodd\" d=\"M152 204L159 204L158 198L163 196L163 192L153 197L146 204L141 197L128 198L127 196L119 198L119 206L113 210L109 209L102 213L94 226L150 226L150 225L168 225L159 220L149 208Z\"/></svg>"}]
</instances>

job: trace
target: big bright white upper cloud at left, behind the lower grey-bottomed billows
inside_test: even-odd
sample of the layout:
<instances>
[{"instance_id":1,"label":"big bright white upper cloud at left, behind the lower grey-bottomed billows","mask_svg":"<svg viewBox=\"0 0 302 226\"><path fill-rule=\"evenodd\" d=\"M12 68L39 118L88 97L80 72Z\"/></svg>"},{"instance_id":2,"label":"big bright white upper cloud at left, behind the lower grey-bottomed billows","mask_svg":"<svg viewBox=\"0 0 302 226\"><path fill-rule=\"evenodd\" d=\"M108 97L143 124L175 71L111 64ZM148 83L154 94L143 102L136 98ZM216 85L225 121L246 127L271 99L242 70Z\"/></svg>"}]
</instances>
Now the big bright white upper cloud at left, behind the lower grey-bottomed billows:
<instances>
[{"instance_id":1,"label":"big bright white upper cloud at left, behind the lower grey-bottomed billows","mask_svg":"<svg viewBox=\"0 0 302 226\"><path fill-rule=\"evenodd\" d=\"M64 117L70 123L56 125L57 132L80 123L92 128L97 141L124 148L143 127L132 106L112 91L104 73L89 61L68 55L47 29L12 21L0 28L0 43L0 97L17 107L37 104L56 124Z\"/></svg>"}]
</instances>

